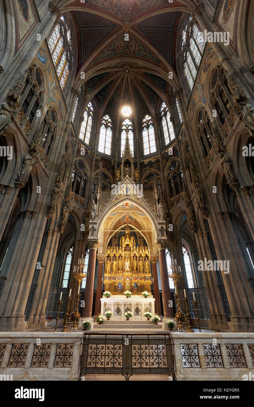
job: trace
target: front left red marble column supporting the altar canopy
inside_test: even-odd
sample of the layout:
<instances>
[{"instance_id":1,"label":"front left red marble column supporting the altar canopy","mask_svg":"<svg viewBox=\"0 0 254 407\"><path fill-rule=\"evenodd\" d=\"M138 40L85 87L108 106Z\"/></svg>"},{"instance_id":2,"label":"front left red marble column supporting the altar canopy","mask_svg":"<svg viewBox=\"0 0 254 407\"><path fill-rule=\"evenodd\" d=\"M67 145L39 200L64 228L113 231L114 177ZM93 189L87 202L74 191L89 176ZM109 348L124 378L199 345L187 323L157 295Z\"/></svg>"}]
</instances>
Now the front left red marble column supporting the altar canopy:
<instances>
[{"instance_id":1,"label":"front left red marble column supporting the altar canopy","mask_svg":"<svg viewBox=\"0 0 254 407\"><path fill-rule=\"evenodd\" d=\"M95 265L96 265L96 252L98 247L98 241L91 241L89 244L89 260L86 276L86 289L84 298L84 308L82 311L82 317L92 317L93 307L93 287L95 279Z\"/></svg>"}]
</instances>

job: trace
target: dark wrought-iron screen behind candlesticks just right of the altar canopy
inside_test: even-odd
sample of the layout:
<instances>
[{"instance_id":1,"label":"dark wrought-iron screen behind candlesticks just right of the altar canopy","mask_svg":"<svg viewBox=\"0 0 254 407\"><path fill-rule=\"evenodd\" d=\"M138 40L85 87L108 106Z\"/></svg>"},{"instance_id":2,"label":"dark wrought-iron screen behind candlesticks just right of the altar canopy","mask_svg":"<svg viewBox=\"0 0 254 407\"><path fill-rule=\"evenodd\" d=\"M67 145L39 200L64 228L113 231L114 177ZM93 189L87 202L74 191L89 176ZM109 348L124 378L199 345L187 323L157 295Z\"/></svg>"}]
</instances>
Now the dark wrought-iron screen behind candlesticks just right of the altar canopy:
<instances>
[{"instance_id":1,"label":"dark wrought-iron screen behind candlesticks just right of the altar canopy","mask_svg":"<svg viewBox=\"0 0 254 407\"><path fill-rule=\"evenodd\" d=\"M200 319L210 319L210 306L208 302L208 296L205 287L198 287L198 288L188 288L186 289L190 315L192 319L197 317L195 307L192 304L193 301L193 292L197 301L197 311L199 314Z\"/></svg>"}]
</instances>

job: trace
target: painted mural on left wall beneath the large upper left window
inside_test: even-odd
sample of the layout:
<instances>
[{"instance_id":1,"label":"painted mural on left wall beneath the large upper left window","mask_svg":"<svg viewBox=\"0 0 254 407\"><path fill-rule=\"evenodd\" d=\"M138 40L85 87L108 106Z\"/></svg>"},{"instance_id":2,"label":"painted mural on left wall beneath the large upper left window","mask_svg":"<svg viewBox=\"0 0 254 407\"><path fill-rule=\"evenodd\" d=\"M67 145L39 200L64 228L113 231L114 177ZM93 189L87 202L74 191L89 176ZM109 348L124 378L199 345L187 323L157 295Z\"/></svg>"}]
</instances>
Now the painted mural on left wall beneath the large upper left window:
<instances>
[{"instance_id":1,"label":"painted mural on left wall beneath the large upper left window","mask_svg":"<svg viewBox=\"0 0 254 407\"><path fill-rule=\"evenodd\" d=\"M51 64L51 59L49 58L49 55L45 48L40 48L37 53L37 57L35 57L35 60L38 60L43 63L45 69L46 69L46 76L48 79L48 101L47 103L54 102L57 104L60 112L60 120L61 120L61 125L62 121L64 120L64 115L66 112L65 106L64 106L64 100L62 93L60 92L59 85L57 84L57 80L55 77L55 72L53 69L53 66Z\"/></svg>"}]
</instances>

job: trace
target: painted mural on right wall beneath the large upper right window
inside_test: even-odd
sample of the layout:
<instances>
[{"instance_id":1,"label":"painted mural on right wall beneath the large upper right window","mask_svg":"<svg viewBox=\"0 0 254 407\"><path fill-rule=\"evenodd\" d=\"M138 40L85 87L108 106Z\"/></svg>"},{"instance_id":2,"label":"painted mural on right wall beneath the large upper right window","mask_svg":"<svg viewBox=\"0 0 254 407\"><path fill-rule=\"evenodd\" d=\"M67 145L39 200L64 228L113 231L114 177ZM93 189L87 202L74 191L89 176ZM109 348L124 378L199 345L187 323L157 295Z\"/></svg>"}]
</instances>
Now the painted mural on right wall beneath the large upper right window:
<instances>
[{"instance_id":1,"label":"painted mural on right wall beneath the large upper right window","mask_svg":"<svg viewBox=\"0 0 254 407\"><path fill-rule=\"evenodd\" d=\"M205 55L203 57L203 61L202 61L202 66L199 70L199 74L196 80L196 84L194 86L194 90L192 92L192 96L191 96L191 101L190 101L190 105L189 105L189 116L190 116L190 120L193 120L194 117L194 110L196 105L199 102L203 102L206 105L206 100L205 100L205 81L207 79L207 71L210 68L210 66L212 65L212 63L214 61L216 61L218 58L214 52L214 50L212 49L211 46L209 46L208 48L206 48L205 50Z\"/></svg>"}]
</instances>

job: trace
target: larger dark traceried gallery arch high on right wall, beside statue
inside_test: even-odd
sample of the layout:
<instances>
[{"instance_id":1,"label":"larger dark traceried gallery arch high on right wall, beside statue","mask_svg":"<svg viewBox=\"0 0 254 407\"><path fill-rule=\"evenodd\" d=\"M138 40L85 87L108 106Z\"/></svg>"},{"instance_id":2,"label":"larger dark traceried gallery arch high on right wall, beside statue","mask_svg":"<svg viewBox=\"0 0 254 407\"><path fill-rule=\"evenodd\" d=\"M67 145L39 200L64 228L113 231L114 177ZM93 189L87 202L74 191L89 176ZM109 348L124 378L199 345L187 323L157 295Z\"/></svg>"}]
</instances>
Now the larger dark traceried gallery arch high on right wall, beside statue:
<instances>
[{"instance_id":1,"label":"larger dark traceried gallery arch high on right wall, beside statue","mask_svg":"<svg viewBox=\"0 0 254 407\"><path fill-rule=\"evenodd\" d=\"M227 80L222 66L217 66L211 76L209 82L210 102L213 109L216 111L214 120L218 120L218 125L223 127L226 122L226 129L224 130L225 136L230 133L233 127L232 121L228 116L233 108L234 101L230 90L227 87Z\"/></svg>"}]
</instances>

